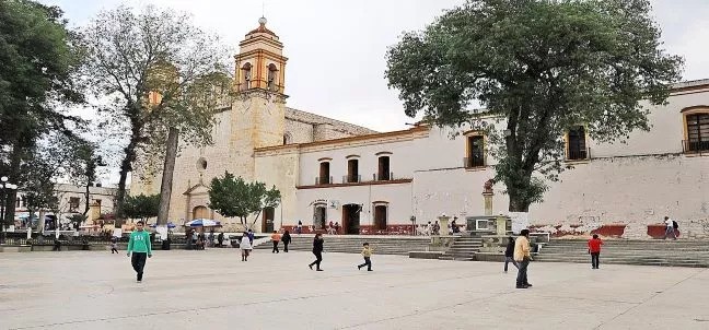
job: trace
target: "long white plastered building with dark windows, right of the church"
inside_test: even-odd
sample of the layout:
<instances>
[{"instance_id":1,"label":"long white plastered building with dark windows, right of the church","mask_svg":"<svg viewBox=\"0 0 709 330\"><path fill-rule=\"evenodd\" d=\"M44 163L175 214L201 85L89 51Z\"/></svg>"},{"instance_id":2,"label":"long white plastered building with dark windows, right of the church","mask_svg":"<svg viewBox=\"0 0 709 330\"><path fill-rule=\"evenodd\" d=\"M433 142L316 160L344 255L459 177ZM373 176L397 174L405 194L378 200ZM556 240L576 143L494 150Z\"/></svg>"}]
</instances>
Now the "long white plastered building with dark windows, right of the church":
<instances>
[{"instance_id":1,"label":"long white plastered building with dark windows, right of the church","mask_svg":"<svg viewBox=\"0 0 709 330\"><path fill-rule=\"evenodd\" d=\"M667 215L681 223L681 235L709 237L709 152L687 150L685 142L686 116L709 114L707 105L709 81L677 84L666 105L644 105L650 110L649 132L634 131L625 143L613 144L585 137L588 157L566 161L568 169L559 181L549 182L544 202L532 205L532 227L557 236L598 233L647 238L658 236L655 225ZM442 213L457 216L458 223L484 215L483 187L495 177L495 160L486 155L485 166L464 166L466 137L452 139L454 132L416 128L299 145L295 217L287 217L284 226L300 220L307 229L317 228L321 224L315 219L319 222L323 215L327 223L346 223L346 204L361 205L361 234L404 233L412 215L419 224L433 222ZM257 150L257 157L266 152L269 157L279 153L277 149ZM292 154L293 149L288 152ZM372 177L383 152L390 157L393 180ZM353 158L362 178L347 182L344 177ZM321 163L329 164L333 182L316 184ZM492 214L507 214L504 187L493 188ZM384 226L375 221L377 204L386 205Z\"/></svg>"}]
</instances>

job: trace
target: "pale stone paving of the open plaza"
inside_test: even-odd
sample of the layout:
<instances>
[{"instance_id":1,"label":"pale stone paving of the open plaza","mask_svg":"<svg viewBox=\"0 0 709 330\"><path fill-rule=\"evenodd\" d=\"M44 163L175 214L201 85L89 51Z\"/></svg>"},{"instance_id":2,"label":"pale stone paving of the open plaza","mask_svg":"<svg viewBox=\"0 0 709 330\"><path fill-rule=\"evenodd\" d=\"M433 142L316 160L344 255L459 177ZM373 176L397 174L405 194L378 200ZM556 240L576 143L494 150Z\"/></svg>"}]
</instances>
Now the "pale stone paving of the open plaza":
<instances>
[{"instance_id":1,"label":"pale stone paving of the open plaza","mask_svg":"<svg viewBox=\"0 0 709 330\"><path fill-rule=\"evenodd\" d=\"M709 329L706 269L502 264L235 249L0 254L0 329Z\"/></svg>"}]
</instances>

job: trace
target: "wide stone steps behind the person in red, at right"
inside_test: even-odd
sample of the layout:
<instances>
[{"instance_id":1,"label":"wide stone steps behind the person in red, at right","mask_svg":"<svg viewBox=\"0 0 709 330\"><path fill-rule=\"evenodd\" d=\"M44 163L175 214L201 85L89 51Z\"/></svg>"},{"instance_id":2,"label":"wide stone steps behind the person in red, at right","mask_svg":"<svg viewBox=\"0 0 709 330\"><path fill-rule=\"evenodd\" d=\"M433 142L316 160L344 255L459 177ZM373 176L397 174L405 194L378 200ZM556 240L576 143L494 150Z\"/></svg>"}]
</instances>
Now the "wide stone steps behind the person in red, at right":
<instances>
[{"instance_id":1,"label":"wide stone steps behind the person in red, at right","mask_svg":"<svg viewBox=\"0 0 709 330\"><path fill-rule=\"evenodd\" d=\"M553 239L535 261L591 263L585 240ZM605 240L604 263L709 268L709 241L702 240Z\"/></svg>"}]
</instances>

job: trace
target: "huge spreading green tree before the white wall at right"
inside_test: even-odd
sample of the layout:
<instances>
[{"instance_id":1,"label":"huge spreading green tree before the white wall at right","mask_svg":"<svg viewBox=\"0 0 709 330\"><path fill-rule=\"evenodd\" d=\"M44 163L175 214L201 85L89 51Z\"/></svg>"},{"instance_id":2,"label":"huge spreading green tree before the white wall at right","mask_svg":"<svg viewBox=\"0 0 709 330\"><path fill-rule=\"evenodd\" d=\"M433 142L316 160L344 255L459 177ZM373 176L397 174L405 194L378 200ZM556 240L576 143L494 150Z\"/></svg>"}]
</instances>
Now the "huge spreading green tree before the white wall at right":
<instances>
[{"instance_id":1,"label":"huge spreading green tree before the white wall at right","mask_svg":"<svg viewBox=\"0 0 709 330\"><path fill-rule=\"evenodd\" d=\"M528 212L562 169L565 132L649 130L640 101L664 103L682 59L662 49L647 0L468 0L405 33L387 64L407 115L487 131L509 211Z\"/></svg>"}]
</instances>

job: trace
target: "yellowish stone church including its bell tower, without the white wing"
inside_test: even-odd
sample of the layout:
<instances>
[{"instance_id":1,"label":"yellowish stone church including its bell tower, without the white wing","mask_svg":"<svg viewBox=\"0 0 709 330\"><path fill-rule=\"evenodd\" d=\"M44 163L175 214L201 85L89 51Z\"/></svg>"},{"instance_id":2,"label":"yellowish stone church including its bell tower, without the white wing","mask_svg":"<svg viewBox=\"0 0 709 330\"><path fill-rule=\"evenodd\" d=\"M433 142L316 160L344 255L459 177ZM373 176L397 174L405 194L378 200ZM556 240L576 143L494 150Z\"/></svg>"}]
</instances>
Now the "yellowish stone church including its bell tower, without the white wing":
<instances>
[{"instance_id":1,"label":"yellowish stone church including its bell tower, without the white wing","mask_svg":"<svg viewBox=\"0 0 709 330\"><path fill-rule=\"evenodd\" d=\"M374 131L286 107L282 44L278 36L260 26L240 43L235 57L234 97L231 105L217 115L213 144L197 148L179 144L175 161L168 219L184 223L195 217L221 221L226 229L237 229L237 220L224 219L209 209L208 186L212 178L230 172L246 180L276 185L283 195L283 204L294 204L299 175L295 156L278 155L272 162L257 160L254 150L286 143L309 143L333 138L353 137ZM153 165L153 166L150 166ZM143 157L133 164L130 190L133 195L160 193L162 173ZM289 214L287 208L277 210ZM286 213L283 213L286 212ZM290 214L289 214L290 215ZM259 226L256 225L255 229Z\"/></svg>"}]
</instances>

